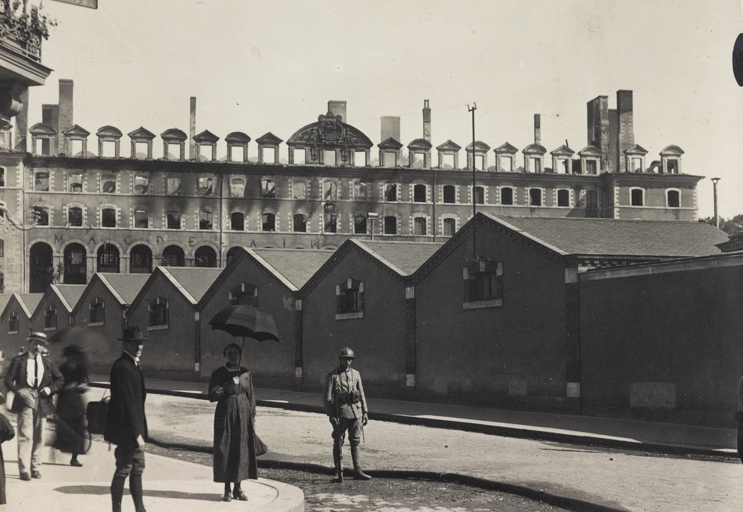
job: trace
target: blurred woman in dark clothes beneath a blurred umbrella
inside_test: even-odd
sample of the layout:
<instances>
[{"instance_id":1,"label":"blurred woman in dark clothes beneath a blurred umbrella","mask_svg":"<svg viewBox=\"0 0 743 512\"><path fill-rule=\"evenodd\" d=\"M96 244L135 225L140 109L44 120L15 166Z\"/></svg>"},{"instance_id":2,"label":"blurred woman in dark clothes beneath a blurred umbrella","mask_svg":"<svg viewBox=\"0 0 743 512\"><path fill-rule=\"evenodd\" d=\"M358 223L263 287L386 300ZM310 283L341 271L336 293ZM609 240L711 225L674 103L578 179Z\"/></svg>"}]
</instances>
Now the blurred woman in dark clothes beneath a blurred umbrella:
<instances>
[{"instance_id":1,"label":"blurred woman in dark clothes beneath a blurred umbrella","mask_svg":"<svg viewBox=\"0 0 743 512\"><path fill-rule=\"evenodd\" d=\"M56 442L54 447L71 453L70 465L82 467L77 456L85 452L85 390L88 389L88 356L79 345L68 345L62 350L65 362L59 367L65 384L56 401Z\"/></svg>"}]
</instances>

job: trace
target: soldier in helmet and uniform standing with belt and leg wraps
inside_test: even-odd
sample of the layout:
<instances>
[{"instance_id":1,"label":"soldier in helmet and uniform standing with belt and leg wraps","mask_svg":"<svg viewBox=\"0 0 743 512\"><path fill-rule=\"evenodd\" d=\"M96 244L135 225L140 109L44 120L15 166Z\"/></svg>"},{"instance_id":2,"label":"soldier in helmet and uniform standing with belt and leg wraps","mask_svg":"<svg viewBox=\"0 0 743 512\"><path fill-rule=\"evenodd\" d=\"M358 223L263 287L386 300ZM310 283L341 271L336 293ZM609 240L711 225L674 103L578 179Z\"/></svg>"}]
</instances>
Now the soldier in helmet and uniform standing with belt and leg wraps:
<instances>
[{"instance_id":1,"label":"soldier in helmet and uniform standing with belt and leg wraps","mask_svg":"<svg viewBox=\"0 0 743 512\"><path fill-rule=\"evenodd\" d=\"M325 375L325 387L322 390L325 413L333 425L333 439L340 436L339 443L333 443L333 462L340 467L343 458L343 442L348 430L348 442L351 443L351 458L354 461L354 480L369 480L361 469L360 442L362 429L369 421L366 409L364 387L361 384L361 375L351 369L354 361L354 351L346 347L338 355L339 364L328 375Z\"/></svg>"}]
</instances>

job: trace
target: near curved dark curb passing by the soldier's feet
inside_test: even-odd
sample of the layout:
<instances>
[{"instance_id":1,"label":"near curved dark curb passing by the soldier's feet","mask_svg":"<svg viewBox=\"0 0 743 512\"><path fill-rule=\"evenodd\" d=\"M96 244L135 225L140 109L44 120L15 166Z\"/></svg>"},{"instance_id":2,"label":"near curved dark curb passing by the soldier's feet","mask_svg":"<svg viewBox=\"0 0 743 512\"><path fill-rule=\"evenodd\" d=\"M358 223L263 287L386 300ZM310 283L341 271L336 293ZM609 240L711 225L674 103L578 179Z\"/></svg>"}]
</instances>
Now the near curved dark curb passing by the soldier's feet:
<instances>
[{"instance_id":1,"label":"near curved dark curb passing by the soldier's feet","mask_svg":"<svg viewBox=\"0 0 743 512\"><path fill-rule=\"evenodd\" d=\"M169 448L172 450L187 450L201 453L214 453L214 449L211 446L201 446L198 444L184 444L184 443L172 443L162 441L155 437L149 437L147 442L155 444L162 448ZM273 459L257 459L258 467L265 469L285 469L294 471L304 471L305 473L319 473L319 474L333 474L333 467L323 466L319 464L312 464L310 462L287 462L277 461ZM461 485L469 485L470 487L476 487L485 490L496 490L502 493L515 494L516 496L522 496L528 499L538 500L539 502L545 502L548 505L555 507L565 508L574 512L626 512L626 508L614 508L607 505L598 505L596 503L587 502L583 499L570 498L568 496L559 496L557 494L548 493L544 490L536 490L525 485L507 484L504 482L498 482L497 480L489 480L484 478L478 478L476 476L462 475L460 473L436 473L435 471L422 471L422 470L365 470L371 476L377 478L389 478L389 479L418 479L418 480L431 480L432 482L449 482ZM353 470L350 467L345 467L343 474L349 478L353 477Z\"/></svg>"}]
</instances>

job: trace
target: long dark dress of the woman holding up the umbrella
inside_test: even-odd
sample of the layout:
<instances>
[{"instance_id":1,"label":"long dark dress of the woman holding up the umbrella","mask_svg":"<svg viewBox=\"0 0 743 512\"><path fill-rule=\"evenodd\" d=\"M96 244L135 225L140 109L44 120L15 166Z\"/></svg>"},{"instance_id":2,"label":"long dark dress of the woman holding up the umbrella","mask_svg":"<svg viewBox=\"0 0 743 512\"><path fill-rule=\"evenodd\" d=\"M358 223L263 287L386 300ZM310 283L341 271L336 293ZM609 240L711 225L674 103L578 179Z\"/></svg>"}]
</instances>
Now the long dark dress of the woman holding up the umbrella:
<instances>
[{"instance_id":1,"label":"long dark dress of the woman holding up the umbrella","mask_svg":"<svg viewBox=\"0 0 743 512\"><path fill-rule=\"evenodd\" d=\"M240 383L233 376L240 375ZM240 482L258 478L255 449L256 398L250 372L220 367L212 372L209 400L214 411L214 481Z\"/></svg>"}]
</instances>

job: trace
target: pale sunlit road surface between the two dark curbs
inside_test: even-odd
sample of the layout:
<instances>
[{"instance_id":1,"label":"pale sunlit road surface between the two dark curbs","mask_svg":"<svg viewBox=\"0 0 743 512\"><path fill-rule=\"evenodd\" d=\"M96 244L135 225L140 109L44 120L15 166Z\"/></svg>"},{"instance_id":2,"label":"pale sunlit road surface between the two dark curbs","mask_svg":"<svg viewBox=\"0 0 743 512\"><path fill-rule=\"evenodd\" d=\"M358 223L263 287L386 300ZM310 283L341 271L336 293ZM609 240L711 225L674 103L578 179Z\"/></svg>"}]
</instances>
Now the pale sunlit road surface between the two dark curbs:
<instances>
[{"instance_id":1,"label":"pale sunlit road surface between the two dark curbs","mask_svg":"<svg viewBox=\"0 0 743 512\"><path fill-rule=\"evenodd\" d=\"M147 397L152 436L209 445L213 410L202 400ZM270 447L269 459L331 465L330 424L323 415L259 407L256 431ZM371 421L365 433L369 468L464 473L627 511L743 510L743 465L731 460L646 456L382 421Z\"/></svg>"}]
</instances>

